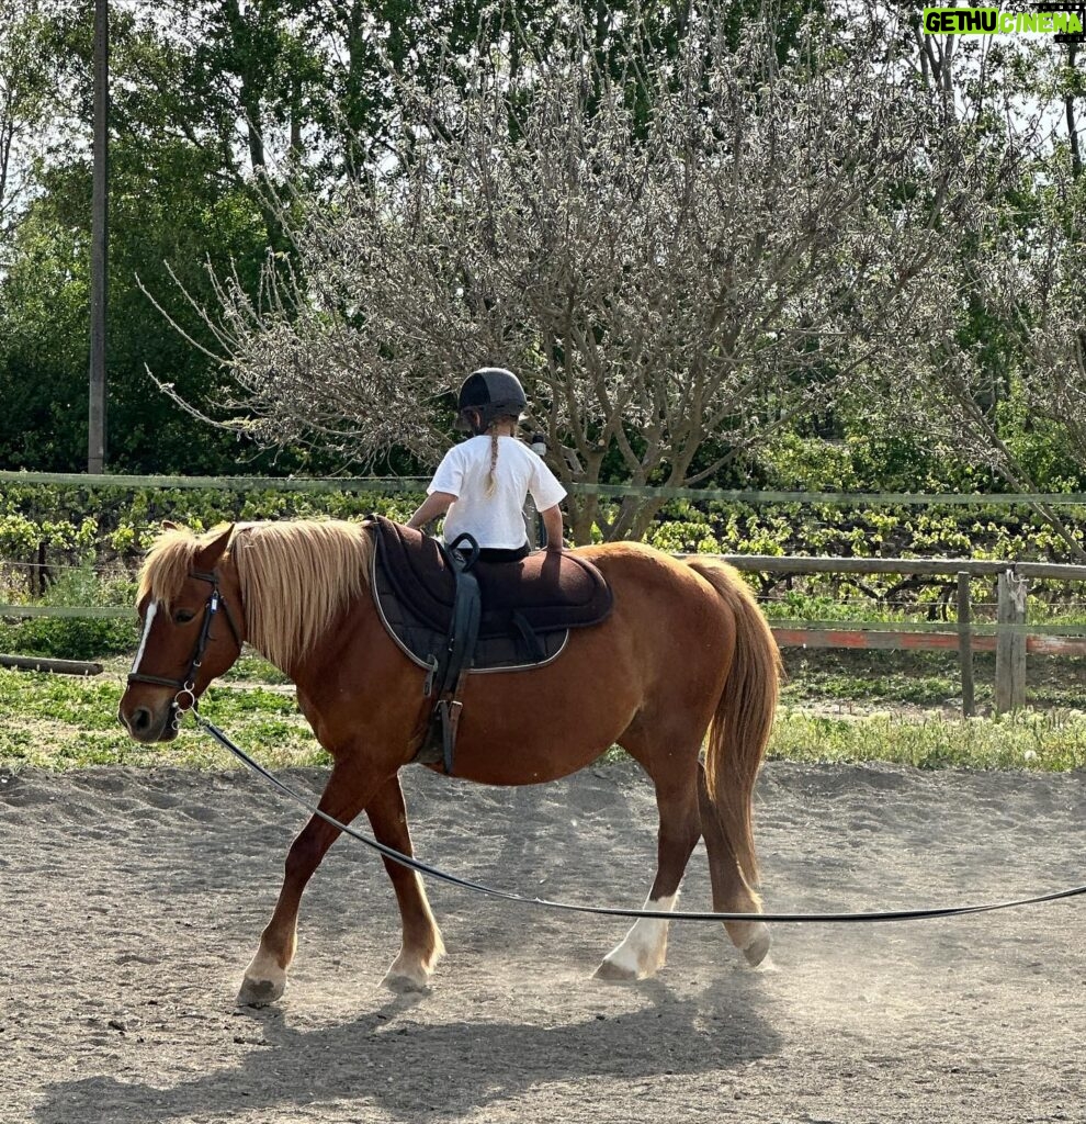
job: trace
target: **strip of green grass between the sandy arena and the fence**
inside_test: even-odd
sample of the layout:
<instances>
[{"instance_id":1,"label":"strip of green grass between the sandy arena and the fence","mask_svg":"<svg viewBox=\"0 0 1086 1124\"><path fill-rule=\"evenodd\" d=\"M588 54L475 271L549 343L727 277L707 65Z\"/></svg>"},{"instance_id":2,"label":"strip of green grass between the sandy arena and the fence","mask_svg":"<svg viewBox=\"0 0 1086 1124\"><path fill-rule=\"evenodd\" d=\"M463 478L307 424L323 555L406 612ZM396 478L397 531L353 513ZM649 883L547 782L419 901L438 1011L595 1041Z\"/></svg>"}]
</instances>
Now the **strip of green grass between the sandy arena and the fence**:
<instances>
[{"instance_id":1,"label":"strip of green grass between the sandy arena and the fence","mask_svg":"<svg viewBox=\"0 0 1086 1124\"><path fill-rule=\"evenodd\" d=\"M109 664L104 676L73 679L64 676L0 670L0 768L37 767L52 770L89 765L234 768L234 759L191 724L165 745L133 742L117 723L117 705L127 665ZM274 669L273 669L274 670ZM949 680L931 670L918 694L946 701ZM922 769L1023 769L1058 771L1086 765L1086 714L1053 709L1025 710L998 718L962 719L920 708L902 714L901 699L891 699L894 713L873 709L886 701L906 669L891 669L883 689L864 695L856 669L824 672L812 694L809 680L793 678L769 747L770 758L803 762L889 761ZM209 692L203 710L258 760L274 768L323 764L318 746L294 696L281 683L270 683L263 661L246 659L227 677L230 686ZM795 677L795 669L793 669ZM275 672L274 678L282 681ZM915 685L914 685L915 686ZM821 713L812 706L818 704ZM861 704L861 705L858 705ZM827 713L834 709L838 713ZM851 710L852 713L846 713Z\"/></svg>"}]
</instances>

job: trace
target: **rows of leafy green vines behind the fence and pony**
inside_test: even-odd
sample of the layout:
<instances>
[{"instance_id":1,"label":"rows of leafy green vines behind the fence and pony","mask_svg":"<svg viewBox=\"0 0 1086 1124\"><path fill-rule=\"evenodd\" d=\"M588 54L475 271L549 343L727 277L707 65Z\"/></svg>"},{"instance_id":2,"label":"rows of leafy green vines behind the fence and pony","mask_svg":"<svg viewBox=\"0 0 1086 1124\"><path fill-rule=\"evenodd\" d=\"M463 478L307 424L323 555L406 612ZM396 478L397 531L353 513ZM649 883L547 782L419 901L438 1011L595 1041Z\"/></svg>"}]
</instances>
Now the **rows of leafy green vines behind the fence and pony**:
<instances>
[{"instance_id":1,"label":"rows of leafy green vines behind the fence and pony","mask_svg":"<svg viewBox=\"0 0 1086 1124\"><path fill-rule=\"evenodd\" d=\"M848 450L837 450L830 455L824 447L812 451L793 442L764 486L875 490L867 474L857 472L855 451L847 454ZM979 481L959 483L964 490L975 490ZM888 486L909 490L912 484L895 478ZM929 487L948 490L946 480L931 479ZM421 495L6 487L0 493L0 601L34 598L60 605L131 605L133 577L163 519L197 531L221 522L313 516L361 519L372 511L402 520L420 500ZM1074 508L1064 509L1061 515L1086 541L1086 515ZM1068 558L1066 544L1034 511L995 501L980 508L857 510L825 504L754 507L675 500L665 506L646 538L668 552L1020 561ZM34 583L27 575L40 575L36 566L43 558L49 580ZM773 616L904 619L909 615L952 615L952 579L769 574L750 575L749 580L768 600ZM991 599L989 586L977 583L978 600ZM1080 598L1080 587L1046 586L1031 599L1030 619L1042 619L1061 602ZM83 659L126 652L134 643L135 626L126 620L0 622L0 651Z\"/></svg>"}]
</instances>

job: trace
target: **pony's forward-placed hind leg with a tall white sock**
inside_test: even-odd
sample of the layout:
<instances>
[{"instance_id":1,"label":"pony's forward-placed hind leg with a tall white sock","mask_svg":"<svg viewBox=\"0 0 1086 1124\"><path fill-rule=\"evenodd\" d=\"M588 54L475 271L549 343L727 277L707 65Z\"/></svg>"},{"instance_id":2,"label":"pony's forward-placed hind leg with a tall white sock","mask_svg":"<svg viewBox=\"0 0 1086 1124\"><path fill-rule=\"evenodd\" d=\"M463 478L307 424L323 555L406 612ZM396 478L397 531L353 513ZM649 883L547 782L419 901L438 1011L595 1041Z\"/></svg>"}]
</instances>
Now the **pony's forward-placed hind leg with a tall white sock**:
<instances>
[{"instance_id":1,"label":"pony's forward-placed hind leg with a tall white sock","mask_svg":"<svg viewBox=\"0 0 1086 1124\"><path fill-rule=\"evenodd\" d=\"M678 900L686 863L701 836L694 773L657 779L656 806L660 817L656 879L644 908L670 913ZM667 957L668 924L661 917L639 918L621 943L603 958L596 978L622 982L655 976Z\"/></svg>"}]
</instances>

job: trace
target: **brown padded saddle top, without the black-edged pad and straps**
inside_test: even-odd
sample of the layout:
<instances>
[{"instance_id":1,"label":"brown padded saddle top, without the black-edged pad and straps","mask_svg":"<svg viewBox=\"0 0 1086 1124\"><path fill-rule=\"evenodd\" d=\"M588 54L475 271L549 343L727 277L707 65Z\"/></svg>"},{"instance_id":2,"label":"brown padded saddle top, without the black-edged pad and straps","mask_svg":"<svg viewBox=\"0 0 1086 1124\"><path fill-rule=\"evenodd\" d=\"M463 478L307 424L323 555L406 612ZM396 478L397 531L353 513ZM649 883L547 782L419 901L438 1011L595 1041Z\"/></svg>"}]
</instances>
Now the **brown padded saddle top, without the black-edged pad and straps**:
<instances>
[{"instance_id":1,"label":"brown padded saddle top, without the black-edged pad and straps","mask_svg":"<svg viewBox=\"0 0 1086 1124\"><path fill-rule=\"evenodd\" d=\"M456 581L435 540L373 516L377 559L396 597L428 625L448 628ZM565 551L536 551L519 562L476 562L483 607L481 636L508 633L518 616L538 633L585 628L611 611L603 574Z\"/></svg>"}]
</instances>

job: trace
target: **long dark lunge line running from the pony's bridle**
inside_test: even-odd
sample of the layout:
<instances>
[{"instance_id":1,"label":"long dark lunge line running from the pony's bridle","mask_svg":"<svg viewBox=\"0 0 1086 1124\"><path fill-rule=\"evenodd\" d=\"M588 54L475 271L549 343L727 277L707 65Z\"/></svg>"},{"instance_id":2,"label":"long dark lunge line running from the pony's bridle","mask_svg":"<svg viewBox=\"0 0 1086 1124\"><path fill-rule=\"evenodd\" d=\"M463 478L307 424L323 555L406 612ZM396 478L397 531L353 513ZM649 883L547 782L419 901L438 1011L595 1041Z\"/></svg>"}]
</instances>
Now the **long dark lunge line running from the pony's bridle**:
<instances>
[{"instance_id":1,"label":"long dark lunge line running from the pony's bridle","mask_svg":"<svg viewBox=\"0 0 1086 1124\"><path fill-rule=\"evenodd\" d=\"M204 622L207 626L207 620ZM184 692L191 691L185 688ZM557 909L565 913L579 913L579 914L594 914L596 916L604 917L635 917L635 918L651 918L657 921L711 921L711 922L795 922L795 923L819 923L819 924L836 924L836 923L861 923L861 922L894 922L894 921L928 921L936 917L964 917L971 914L980 913L993 913L996 909L1013 909L1019 906L1032 906L1040 905L1043 901L1060 901L1065 898L1079 897L1086 894L1086 886L1076 886L1066 890L1055 890L1050 894L1038 894L1028 898L1016 898L1013 901L995 901L995 903L984 903L982 905L967 905L967 906L941 906L934 908L924 909L894 909L894 910L882 910L875 913L837 913L837 914L752 914L752 913L699 913L699 912L684 912L678 910L675 913L668 913L663 909L624 909L621 907L612 906L588 906L588 905L577 905L569 901L551 901L547 898L530 898L522 894L515 894L512 890L499 890L491 886L484 886L480 882L473 882L466 878L459 878L456 874L446 873L436 867L430 867L425 862L420 862L418 859L411 855L403 854L393 847L386 846L384 843L375 839L371 839L368 835L356 831L348 824L340 823L334 816L328 815L328 813L322 812L320 808L314 807L309 799L298 792L295 789L291 788L289 785L284 783L268 769L265 769L258 761L255 761L249 756L245 750L235 745L232 741L221 731L215 723L209 722L203 717L202 714L197 709L195 697L192 697L191 705L182 706L180 704L181 694L175 700L175 706L177 707L177 718L176 722L180 723L181 717L186 711L191 711L193 718L195 718L198 725L211 735L223 749L230 751L239 761L252 769L255 773L263 777L275 788L277 788L284 796L288 796L295 804L301 805L310 815L317 816L322 819L326 824L331 827L337 828L345 835L349 835L353 840L357 840L359 843L364 843L366 846L376 851L378 854L383 855L385 859L391 859L393 862L398 862L401 867L407 867L409 870L414 870L421 874L428 874L431 878L436 878L439 881L448 882L450 886L459 886L462 889L474 890L477 894L484 894L487 897L499 898L503 901L515 901L520 905L539 906L544 909Z\"/></svg>"}]
</instances>

